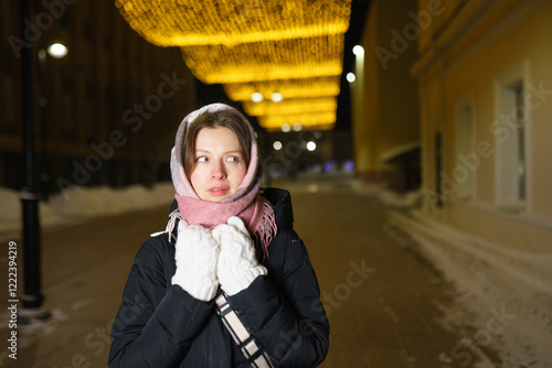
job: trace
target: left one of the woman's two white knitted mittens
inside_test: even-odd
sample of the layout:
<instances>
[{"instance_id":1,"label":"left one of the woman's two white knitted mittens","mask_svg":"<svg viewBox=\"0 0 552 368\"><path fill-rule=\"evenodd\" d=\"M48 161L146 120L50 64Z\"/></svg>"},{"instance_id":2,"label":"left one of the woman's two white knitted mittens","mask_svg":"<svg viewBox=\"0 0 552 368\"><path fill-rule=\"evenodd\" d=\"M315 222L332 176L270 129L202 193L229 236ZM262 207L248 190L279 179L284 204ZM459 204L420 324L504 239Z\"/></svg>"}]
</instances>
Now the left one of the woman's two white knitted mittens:
<instances>
[{"instance_id":1,"label":"left one of the woman's two white knitted mittens","mask_svg":"<svg viewBox=\"0 0 552 368\"><path fill-rule=\"evenodd\" d=\"M197 300L209 302L219 288L219 245L211 231L201 225L188 225L182 219L176 247L177 272L172 277L172 284L179 285Z\"/></svg>"}]
</instances>

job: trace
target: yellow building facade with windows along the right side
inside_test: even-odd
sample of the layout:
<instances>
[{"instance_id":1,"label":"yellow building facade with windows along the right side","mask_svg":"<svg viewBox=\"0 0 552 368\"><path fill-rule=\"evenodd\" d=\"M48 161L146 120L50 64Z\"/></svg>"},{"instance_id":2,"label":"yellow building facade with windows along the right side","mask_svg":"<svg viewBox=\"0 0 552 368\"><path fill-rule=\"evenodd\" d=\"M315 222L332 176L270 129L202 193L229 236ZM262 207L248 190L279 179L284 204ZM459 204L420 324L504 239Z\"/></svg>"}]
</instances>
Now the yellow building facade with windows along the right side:
<instances>
[{"instance_id":1,"label":"yellow building facade with windows along the right side","mask_svg":"<svg viewBox=\"0 0 552 368\"><path fill-rule=\"evenodd\" d=\"M549 252L552 1L420 0L416 12L410 74L423 212L512 249ZM414 29L403 31L414 39Z\"/></svg>"}]
</instances>

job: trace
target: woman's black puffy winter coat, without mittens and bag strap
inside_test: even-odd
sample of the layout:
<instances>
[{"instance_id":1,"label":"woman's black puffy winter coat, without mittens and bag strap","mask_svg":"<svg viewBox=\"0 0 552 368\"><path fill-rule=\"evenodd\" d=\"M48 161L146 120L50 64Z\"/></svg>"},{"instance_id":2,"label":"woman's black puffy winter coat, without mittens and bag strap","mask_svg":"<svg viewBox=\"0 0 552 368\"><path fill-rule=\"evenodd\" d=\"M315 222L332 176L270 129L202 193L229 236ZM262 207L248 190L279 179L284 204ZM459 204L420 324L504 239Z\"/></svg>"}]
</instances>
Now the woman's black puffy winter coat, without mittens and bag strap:
<instances>
[{"instance_id":1,"label":"woman's black puffy winter coat, without mittens and bag strap","mask_svg":"<svg viewBox=\"0 0 552 368\"><path fill-rule=\"evenodd\" d=\"M268 274L229 304L275 367L316 367L328 351L329 324L315 271L293 229L289 193L269 188L263 195L278 227L264 263ZM214 302L172 285L174 271L174 240L163 234L144 243L112 329L109 367L251 367Z\"/></svg>"}]
</instances>

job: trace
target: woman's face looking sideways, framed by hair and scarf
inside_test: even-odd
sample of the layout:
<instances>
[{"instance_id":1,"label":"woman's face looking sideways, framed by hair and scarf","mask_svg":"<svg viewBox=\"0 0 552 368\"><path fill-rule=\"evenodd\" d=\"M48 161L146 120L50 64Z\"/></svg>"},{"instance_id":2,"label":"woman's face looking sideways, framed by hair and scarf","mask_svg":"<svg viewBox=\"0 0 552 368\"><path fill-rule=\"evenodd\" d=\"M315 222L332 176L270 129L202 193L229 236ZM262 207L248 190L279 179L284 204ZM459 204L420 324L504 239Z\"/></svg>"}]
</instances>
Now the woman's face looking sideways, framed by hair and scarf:
<instances>
[{"instance_id":1,"label":"woman's face looking sideways, framed by hair and scarf","mask_svg":"<svg viewBox=\"0 0 552 368\"><path fill-rule=\"evenodd\" d=\"M229 128L203 128L195 137L190 181L200 199L219 202L242 183L247 167L237 136Z\"/></svg>"}]
</instances>

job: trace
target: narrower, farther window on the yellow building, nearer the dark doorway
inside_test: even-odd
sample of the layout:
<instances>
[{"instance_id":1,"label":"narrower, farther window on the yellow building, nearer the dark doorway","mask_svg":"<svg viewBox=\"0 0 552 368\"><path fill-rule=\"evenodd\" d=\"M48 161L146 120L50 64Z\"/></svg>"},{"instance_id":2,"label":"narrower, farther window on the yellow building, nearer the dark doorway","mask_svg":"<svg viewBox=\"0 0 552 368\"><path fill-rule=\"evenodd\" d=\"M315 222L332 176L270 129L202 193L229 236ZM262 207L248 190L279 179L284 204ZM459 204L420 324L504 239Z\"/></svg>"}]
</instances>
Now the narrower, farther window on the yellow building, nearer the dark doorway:
<instances>
[{"instance_id":1,"label":"narrower, farther window on the yellow building, nearer the dark doorway","mask_svg":"<svg viewBox=\"0 0 552 368\"><path fill-rule=\"evenodd\" d=\"M460 201L469 201L474 196L476 171L479 166L478 160L474 159L476 149L473 104L459 104L456 113L456 167L453 170L458 185L456 197Z\"/></svg>"}]
</instances>

